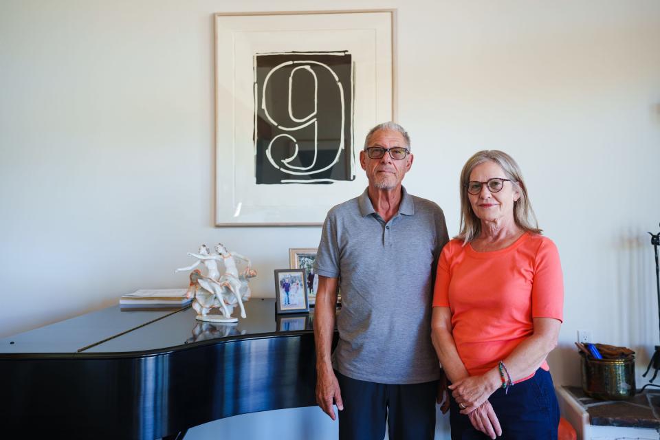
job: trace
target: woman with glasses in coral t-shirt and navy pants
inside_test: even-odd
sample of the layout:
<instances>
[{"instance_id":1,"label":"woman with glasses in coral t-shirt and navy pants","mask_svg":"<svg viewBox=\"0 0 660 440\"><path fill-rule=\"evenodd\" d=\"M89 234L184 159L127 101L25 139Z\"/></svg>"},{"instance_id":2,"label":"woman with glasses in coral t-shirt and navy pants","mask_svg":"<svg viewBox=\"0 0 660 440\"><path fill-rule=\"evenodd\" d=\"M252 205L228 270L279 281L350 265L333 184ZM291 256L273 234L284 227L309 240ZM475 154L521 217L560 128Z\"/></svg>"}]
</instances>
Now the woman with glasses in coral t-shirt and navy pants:
<instances>
[{"instance_id":1,"label":"woman with glasses in coral t-shirt and navy pants","mask_svg":"<svg viewBox=\"0 0 660 440\"><path fill-rule=\"evenodd\" d=\"M541 235L518 164L479 151L461 172L461 233L443 248L433 299L452 440L557 438L545 358L563 296L557 248Z\"/></svg>"}]
</instances>

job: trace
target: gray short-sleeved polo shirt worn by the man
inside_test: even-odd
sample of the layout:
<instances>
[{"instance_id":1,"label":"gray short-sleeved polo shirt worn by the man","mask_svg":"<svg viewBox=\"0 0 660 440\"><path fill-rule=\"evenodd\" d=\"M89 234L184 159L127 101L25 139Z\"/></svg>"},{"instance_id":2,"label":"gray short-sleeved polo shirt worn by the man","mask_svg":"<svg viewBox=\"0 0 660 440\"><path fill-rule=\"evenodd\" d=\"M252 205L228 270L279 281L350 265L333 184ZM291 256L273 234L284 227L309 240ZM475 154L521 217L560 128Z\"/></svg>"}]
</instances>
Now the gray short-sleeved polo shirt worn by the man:
<instances>
[{"instance_id":1,"label":"gray short-sleeved polo shirt worn by the man","mask_svg":"<svg viewBox=\"0 0 660 440\"><path fill-rule=\"evenodd\" d=\"M365 190L332 208L323 224L314 270L340 278L333 368L353 379L417 384L439 377L430 319L447 227L436 203L402 192L387 223Z\"/></svg>"}]
</instances>

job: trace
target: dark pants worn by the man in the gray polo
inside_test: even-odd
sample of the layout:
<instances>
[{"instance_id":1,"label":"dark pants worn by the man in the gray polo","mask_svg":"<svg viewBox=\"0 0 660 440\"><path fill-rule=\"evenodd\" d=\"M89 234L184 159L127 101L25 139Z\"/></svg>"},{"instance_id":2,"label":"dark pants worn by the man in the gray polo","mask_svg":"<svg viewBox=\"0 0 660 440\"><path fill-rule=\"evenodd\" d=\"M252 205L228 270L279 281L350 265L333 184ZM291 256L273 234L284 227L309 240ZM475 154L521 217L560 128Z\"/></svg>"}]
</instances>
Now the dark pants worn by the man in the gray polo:
<instances>
[{"instance_id":1,"label":"dark pants worn by the man in the gray polo","mask_svg":"<svg viewBox=\"0 0 660 440\"><path fill-rule=\"evenodd\" d=\"M351 379L335 371L344 410L339 412L340 440L432 440L438 381L391 385Z\"/></svg>"}]
</instances>

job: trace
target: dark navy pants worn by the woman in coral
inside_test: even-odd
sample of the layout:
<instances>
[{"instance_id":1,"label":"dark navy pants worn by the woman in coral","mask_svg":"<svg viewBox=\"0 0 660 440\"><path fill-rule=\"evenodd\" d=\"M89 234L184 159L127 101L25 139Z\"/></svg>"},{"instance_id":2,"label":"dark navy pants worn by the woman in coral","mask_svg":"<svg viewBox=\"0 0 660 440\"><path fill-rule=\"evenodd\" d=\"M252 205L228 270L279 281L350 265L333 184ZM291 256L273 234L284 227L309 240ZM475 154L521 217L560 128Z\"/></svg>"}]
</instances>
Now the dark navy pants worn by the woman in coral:
<instances>
[{"instance_id":1,"label":"dark navy pants worn by the woman in coral","mask_svg":"<svg viewBox=\"0 0 660 440\"><path fill-rule=\"evenodd\" d=\"M557 440L559 404L550 373L538 369L533 377L511 386L509 393L498 389L488 400L502 427L506 440ZM489 437L474 429L467 415L452 397L449 421L452 440L483 440Z\"/></svg>"}]
</instances>

